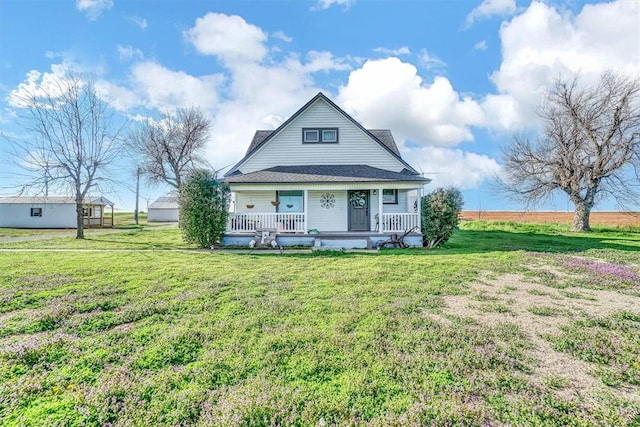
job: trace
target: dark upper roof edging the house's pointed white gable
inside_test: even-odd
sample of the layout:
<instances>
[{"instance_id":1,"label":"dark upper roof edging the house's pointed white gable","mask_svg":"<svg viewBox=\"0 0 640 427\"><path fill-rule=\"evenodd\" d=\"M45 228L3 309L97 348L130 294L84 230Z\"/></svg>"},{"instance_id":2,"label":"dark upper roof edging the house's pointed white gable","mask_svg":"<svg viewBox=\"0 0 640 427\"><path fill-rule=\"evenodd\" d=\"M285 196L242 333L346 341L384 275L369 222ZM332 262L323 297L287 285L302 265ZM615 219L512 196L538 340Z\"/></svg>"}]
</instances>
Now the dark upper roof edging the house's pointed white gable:
<instances>
[{"instance_id":1,"label":"dark upper roof edging the house's pointed white gable","mask_svg":"<svg viewBox=\"0 0 640 427\"><path fill-rule=\"evenodd\" d=\"M348 119L351 123L353 123L358 129L360 129L362 132L367 134L373 141L375 141L378 144L380 144L380 146L383 147L389 154L391 154L398 161L400 161L407 170L409 170L409 171L411 171L411 172L413 172L415 174L418 174L418 172L415 169L413 169L411 167L411 165L409 165L407 162L405 162L402 159L402 157L400 157L400 152L398 151L398 147L396 145L395 140L393 139L393 135L391 134L390 130L388 130L388 129L374 129L374 130L365 129L360 123L358 123L353 117L351 117L349 114L347 114L342 108L338 107L333 101L331 101L329 98L327 98L325 94L323 94L322 92L318 92L318 94L316 96L311 98L311 100L309 100L309 102L307 102L305 105L303 105L302 108L300 108L298 111L296 111L291 117L289 117L280 126L278 126L277 129L275 129L273 131L268 131L268 130L256 131L256 133L253 136L253 140L251 141L251 144L249 144L249 148L247 149L247 152L246 152L245 156L238 163L233 165L233 167L231 169L229 169L229 171L225 174L225 176L230 176L230 175L237 174L238 173L238 168L245 161L247 161L251 156L253 156L256 153L256 151L258 151L258 149L260 147L264 146L275 135L277 135L281 130L286 128L291 122L293 122L298 116L300 116L302 113L304 113L309 107L311 107L319 99L321 99L324 102L326 102L329 106L331 106L338 113L340 113L346 119Z\"/></svg>"}]
</instances>

